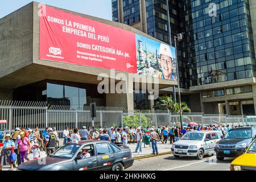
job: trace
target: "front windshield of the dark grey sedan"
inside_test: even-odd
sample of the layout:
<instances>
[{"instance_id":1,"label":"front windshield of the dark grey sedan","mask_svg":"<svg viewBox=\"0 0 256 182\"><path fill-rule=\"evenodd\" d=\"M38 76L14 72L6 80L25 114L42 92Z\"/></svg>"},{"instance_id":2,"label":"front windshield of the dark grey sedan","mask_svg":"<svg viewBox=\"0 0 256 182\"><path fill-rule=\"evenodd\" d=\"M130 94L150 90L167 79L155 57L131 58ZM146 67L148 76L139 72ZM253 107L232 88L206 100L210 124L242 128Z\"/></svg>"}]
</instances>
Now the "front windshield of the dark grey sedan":
<instances>
[{"instance_id":1,"label":"front windshield of the dark grey sedan","mask_svg":"<svg viewBox=\"0 0 256 182\"><path fill-rule=\"evenodd\" d=\"M79 144L65 144L56 150L51 156L56 158L67 158L71 159L77 150L79 150Z\"/></svg>"}]
</instances>

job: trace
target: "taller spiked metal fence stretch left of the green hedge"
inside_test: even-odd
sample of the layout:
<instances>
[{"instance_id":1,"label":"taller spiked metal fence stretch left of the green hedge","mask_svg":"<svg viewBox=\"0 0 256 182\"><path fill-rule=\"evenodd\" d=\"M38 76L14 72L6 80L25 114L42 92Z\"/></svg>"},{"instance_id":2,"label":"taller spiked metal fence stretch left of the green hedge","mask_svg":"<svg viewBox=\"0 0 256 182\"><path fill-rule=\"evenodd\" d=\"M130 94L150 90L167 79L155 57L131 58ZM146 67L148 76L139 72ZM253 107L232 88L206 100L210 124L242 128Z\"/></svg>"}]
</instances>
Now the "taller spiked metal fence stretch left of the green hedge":
<instances>
[{"instance_id":1,"label":"taller spiked metal fence stretch left of the green hedge","mask_svg":"<svg viewBox=\"0 0 256 182\"><path fill-rule=\"evenodd\" d=\"M0 124L4 132L13 133L16 127L40 130L46 127L56 127L61 133L65 126L69 128L82 126L92 127L89 106L49 106L47 102L20 102L0 101ZM96 107L97 117L94 118L94 127L122 126L122 107Z\"/></svg>"}]
</instances>

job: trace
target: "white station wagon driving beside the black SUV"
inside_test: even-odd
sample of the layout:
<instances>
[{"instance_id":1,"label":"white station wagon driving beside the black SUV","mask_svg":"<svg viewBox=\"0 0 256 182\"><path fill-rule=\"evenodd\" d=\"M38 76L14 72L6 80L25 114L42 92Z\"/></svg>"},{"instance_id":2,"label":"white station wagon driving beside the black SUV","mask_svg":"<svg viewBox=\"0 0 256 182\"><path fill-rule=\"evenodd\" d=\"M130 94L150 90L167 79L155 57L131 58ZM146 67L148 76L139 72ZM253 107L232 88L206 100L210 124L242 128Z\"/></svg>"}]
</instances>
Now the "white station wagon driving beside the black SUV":
<instances>
[{"instance_id":1,"label":"white station wagon driving beside the black SUV","mask_svg":"<svg viewBox=\"0 0 256 182\"><path fill-rule=\"evenodd\" d=\"M175 158L179 156L196 156L214 154L214 145L223 137L221 131L191 131L172 144L171 152Z\"/></svg>"}]
</instances>

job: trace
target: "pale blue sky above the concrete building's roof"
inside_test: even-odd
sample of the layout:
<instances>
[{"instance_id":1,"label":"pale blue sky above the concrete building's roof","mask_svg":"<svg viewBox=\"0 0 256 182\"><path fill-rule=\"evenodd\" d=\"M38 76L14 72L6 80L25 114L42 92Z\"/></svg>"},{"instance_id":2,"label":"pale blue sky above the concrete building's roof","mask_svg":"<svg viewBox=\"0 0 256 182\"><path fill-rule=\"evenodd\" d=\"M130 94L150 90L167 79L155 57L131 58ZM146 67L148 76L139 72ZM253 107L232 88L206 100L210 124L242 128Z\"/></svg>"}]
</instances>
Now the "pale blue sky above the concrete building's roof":
<instances>
[{"instance_id":1,"label":"pale blue sky above the concrete building's roof","mask_svg":"<svg viewBox=\"0 0 256 182\"><path fill-rule=\"evenodd\" d=\"M27 5L30 0L1 0L0 18L6 16L20 7ZM61 7L82 14L97 16L112 20L111 0L37 0L46 5Z\"/></svg>"}]
</instances>

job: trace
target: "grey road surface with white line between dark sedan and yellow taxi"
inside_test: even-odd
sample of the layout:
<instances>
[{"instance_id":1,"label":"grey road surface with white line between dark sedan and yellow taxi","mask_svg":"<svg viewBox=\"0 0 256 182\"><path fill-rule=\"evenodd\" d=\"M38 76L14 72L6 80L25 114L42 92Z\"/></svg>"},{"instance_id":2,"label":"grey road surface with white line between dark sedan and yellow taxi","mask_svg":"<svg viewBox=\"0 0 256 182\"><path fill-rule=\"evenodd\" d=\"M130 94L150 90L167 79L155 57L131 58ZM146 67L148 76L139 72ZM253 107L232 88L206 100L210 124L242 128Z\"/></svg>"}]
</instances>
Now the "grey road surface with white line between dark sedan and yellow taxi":
<instances>
[{"instance_id":1,"label":"grey road surface with white line between dark sedan and yellow taxi","mask_svg":"<svg viewBox=\"0 0 256 182\"><path fill-rule=\"evenodd\" d=\"M127 171L228 171L232 158L219 162L216 156L205 156L202 160L196 158L180 157L173 155L160 155L152 158L134 160L133 166Z\"/></svg>"}]
</instances>

